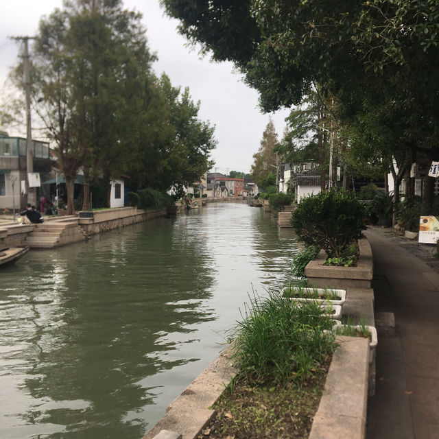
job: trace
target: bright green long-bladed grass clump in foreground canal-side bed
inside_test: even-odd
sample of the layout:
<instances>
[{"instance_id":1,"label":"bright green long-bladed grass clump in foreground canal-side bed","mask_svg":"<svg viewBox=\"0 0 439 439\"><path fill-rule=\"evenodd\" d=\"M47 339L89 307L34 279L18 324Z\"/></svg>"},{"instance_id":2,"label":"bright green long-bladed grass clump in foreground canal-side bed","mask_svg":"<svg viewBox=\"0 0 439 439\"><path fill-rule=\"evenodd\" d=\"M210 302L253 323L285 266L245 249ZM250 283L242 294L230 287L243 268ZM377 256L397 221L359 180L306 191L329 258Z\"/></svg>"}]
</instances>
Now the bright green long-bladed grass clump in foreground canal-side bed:
<instances>
[{"instance_id":1,"label":"bright green long-bladed grass clump in foreground canal-side bed","mask_svg":"<svg viewBox=\"0 0 439 439\"><path fill-rule=\"evenodd\" d=\"M333 352L333 322L316 302L285 300L281 293L254 296L238 322L235 361L239 373L257 383L302 382Z\"/></svg>"}]
</instances>

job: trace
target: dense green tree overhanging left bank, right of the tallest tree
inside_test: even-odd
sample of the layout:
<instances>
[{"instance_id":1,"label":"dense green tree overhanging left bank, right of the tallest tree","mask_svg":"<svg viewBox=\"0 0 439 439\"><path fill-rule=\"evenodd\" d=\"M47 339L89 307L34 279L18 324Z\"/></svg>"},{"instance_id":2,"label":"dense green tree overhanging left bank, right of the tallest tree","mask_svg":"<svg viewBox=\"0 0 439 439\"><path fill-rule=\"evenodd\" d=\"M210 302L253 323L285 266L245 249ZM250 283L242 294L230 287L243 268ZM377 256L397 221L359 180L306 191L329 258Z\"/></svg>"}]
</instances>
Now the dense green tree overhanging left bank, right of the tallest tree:
<instances>
[{"instance_id":1,"label":"dense green tree overhanging left bank, right of the tallest tree","mask_svg":"<svg viewBox=\"0 0 439 439\"><path fill-rule=\"evenodd\" d=\"M216 145L214 127L198 119L200 102L189 88L174 87L167 75L154 82L145 99L138 139L137 185L155 189L190 186L211 166L209 154Z\"/></svg>"}]
</instances>

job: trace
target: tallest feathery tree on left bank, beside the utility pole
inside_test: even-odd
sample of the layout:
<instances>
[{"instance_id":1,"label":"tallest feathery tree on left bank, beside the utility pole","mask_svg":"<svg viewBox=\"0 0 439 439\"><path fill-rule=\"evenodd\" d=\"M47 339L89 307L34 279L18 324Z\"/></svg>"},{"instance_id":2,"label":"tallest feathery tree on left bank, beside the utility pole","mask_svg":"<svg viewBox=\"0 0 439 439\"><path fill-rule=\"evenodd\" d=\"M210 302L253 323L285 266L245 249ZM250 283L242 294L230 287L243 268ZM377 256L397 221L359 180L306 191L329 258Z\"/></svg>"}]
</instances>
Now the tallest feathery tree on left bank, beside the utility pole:
<instances>
[{"instance_id":1,"label":"tallest feathery tree on left bank, beside the utility pole","mask_svg":"<svg viewBox=\"0 0 439 439\"><path fill-rule=\"evenodd\" d=\"M40 23L34 90L44 102L38 113L57 144L69 213L79 167L86 180L93 171L108 182L108 203L110 176L127 168L139 88L154 59L140 19L122 10L119 0L77 0Z\"/></svg>"}]
</instances>

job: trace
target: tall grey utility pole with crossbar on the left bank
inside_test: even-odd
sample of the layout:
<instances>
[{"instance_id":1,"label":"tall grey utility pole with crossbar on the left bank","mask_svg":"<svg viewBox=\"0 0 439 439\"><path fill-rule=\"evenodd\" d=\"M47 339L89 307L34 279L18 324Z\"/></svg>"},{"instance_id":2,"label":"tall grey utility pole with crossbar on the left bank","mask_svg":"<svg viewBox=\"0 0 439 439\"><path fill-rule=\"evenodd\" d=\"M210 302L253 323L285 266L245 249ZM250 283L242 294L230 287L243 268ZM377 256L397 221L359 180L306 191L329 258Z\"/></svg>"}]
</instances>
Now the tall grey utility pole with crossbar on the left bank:
<instances>
[{"instance_id":1,"label":"tall grey utility pole with crossbar on the left bank","mask_svg":"<svg viewBox=\"0 0 439 439\"><path fill-rule=\"evenodd\" d=\"M29 40L35 40L34 36L12 36L12 40L21 40L24 43L23 72L26 98L26 172L27 172L27 202L36 205L36 189L29 187L29 172L34 172L34 145L32 144L32 125L30 117L30 62Z\"/></svg>"}]
</instances>

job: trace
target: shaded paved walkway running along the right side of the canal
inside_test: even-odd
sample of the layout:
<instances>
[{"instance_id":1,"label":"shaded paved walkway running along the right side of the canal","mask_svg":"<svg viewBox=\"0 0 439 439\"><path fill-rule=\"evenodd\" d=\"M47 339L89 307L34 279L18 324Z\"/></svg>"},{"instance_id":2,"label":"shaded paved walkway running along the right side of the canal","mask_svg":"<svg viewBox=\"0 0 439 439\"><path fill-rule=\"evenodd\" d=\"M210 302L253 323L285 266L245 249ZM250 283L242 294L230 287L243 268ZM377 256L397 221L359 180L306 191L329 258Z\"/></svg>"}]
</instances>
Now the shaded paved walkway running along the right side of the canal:
<instances>
[{"instance_id":1,"label":"shaded paved walkway running along the right side of the canal","mask_svg":"<svg viewBox=\"0 0 439 439\"><path fill-rule=\"evenodd\" d=\"M391 229L365 234L379 340L367 439L439 438L439 261Z\"/></svg>"}]
</instances>

